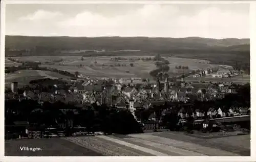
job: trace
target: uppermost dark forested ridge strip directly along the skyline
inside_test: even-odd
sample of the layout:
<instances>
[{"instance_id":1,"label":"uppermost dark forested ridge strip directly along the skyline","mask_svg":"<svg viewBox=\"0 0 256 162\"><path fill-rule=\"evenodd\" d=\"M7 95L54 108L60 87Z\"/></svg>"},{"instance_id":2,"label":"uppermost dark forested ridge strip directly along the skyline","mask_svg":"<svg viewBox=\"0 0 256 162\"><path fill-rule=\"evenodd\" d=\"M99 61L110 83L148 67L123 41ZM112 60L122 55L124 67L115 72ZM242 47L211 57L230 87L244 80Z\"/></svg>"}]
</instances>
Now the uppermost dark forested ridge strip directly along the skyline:
<instances>
[{"instance_id":1,"label":"uppermost dark forested ridge strip directly along the skyline","mask_svg":"<svg viewBox=\"0 0 256 162\"><path fill-rule=\"evenodd\" d=\"M48 48L58 50L174 50L174 49L219 49L232 45L249 44L249 39L149 38L149 37L30 37L6 36L8 49Z\"/></svg>"}]
</instances>

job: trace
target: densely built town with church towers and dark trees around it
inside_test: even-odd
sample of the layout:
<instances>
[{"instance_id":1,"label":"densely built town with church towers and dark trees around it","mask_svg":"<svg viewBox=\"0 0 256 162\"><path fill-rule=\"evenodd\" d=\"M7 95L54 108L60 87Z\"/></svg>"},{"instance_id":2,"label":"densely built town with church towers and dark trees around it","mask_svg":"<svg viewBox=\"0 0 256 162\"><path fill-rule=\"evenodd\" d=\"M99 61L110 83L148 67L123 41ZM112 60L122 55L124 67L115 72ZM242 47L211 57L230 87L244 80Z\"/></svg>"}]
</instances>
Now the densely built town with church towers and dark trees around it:
<instances>
[{"instance_id":1,"label":"densely built town with church towers and dark trees around it","mask_svg":"<svg viewBox=\"0 0 256 162\"><path fill-rule=\"evenodd\" d=\"M27 68L33 66L27 65ZM198 120L249 115L249 84L201 82L205 76L232 77L241 71L215 71L215 74L211 69L194 72L193 77L198 80L194 82L187 82L184 75L174 79L161 73L153 81L145 78L91 78L76 73L70 80L38 79L24 87L12 82L5 92L6 138L95 132L126 134L158 129L180 131L184 128L191 132L203 129L203 122L200 126L195 124ZM108 119L114 118L111 113L124 116L120 117L122 119ZM123 125L112 123L109 125L115 128L111 128L106 125L113 122L109 120L117 120L116 124ZM187 129L191 120L194 126ZM125 124L131 127L129 122L134 123L131 130L121 128ZM248 121L243 126L249 129Z\"/></svg>"}]
</instances>

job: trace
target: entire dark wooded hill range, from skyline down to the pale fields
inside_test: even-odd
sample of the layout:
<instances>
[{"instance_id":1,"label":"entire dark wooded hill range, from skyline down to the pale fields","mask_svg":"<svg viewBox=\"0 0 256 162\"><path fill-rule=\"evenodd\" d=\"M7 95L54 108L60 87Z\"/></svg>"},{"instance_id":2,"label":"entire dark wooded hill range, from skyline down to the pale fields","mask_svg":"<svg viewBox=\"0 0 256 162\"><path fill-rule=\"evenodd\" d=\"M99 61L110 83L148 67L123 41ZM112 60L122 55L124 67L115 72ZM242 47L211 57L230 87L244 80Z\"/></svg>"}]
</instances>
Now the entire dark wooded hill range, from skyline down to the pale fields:
<instances>
[{"instance_id":1,"label":"entire dark wooded hill range, from skyline down to the pale fields","mask_svg":"<svg viewBox=\"0 0 256 162\"><path fill-rule=\"evenodd\" d=\"M6 36L6 57L11 56L124 56L155 55L206 59L234 65L250 62L249 39L149 37L37 37ZM104 52L92 51L102 50ZM72 50L72 52L70 51ZM91 50L91 51L90 51ZM130 51L129 51L130 50ZM134 50L134 51L131 51ZM137 51L136 51L137 50ZM74 52L79 51L79 52ZM221 59L220 59L221 58ZM220 62L221 60L221 62Z\"/></svg>"}]
</instances>

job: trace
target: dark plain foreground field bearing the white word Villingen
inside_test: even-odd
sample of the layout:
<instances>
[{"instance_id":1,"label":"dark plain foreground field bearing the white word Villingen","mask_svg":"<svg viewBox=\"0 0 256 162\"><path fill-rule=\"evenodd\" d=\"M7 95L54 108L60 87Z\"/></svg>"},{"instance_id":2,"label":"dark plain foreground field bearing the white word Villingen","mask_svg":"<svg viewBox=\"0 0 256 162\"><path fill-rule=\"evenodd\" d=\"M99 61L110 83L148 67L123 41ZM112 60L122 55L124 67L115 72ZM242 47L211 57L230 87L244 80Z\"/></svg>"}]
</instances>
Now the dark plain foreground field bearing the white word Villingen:
<instances>
[{"instance_id":1,"label":"dark plain foreground field bearing the white word Villingen","mask_svg":"<svg viewBox=\"0 0 256 162\"><path fill-rule=\"evenodd\" d=\"M37 147L42 151L21 151L19 147ZM23 139L5 142L5 156L102 156L60 138Z\"/></svg>"}]
</instances>

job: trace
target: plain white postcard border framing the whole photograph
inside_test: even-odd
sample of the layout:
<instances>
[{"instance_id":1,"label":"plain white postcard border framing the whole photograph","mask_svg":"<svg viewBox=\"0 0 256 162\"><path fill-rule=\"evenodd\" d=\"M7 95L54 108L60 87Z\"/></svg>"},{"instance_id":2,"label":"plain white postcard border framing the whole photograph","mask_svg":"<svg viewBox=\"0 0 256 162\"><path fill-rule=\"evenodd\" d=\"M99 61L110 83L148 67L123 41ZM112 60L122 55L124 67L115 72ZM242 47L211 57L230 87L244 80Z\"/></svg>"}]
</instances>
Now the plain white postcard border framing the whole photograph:
<instances>
[{"instance_id":1,"label":"plain white postcard border framing the whole photograph","mask_svg":"<svg viewBox=\"0 0 256 162\"><path fill-rule=\"evenodd\" d=\"M4 156L4 88L5 88L5 5L6 4L250 4L250 52L251 52L251 156L155 156L155 157L79 157L79 156L46 156L46 157L26 157L26 156ZM252 82L255 77L255 72L252 69L256 69L256 63L253 64L254 57L256 53L256 2L255 1L1 1L1 88L0 88L0 103L1 103L1 113L0 113L0 161L256 161L256 141L252 137L256 137L256 127L253 125L255 123L255 118L253 116L256 113L254 110L253 96L255 94L255 84ZM253 122L254 121L254 122Z\"/></svg>"}]
</instances>

